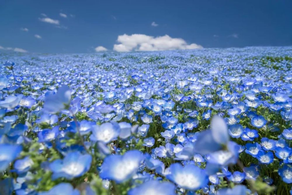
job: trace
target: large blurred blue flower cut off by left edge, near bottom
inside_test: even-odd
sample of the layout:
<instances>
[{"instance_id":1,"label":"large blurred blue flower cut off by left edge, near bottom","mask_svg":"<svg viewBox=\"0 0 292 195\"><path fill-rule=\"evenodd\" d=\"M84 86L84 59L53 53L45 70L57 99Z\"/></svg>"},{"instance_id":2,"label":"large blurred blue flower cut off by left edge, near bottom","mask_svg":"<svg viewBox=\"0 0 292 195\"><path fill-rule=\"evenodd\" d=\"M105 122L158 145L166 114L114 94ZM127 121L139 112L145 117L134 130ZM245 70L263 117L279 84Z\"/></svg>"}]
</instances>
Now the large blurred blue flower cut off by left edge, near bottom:
<instances>
[{"instance_id":1,"label":"large blurred blue flower cut off by left edge, near bottom","mask_svg":"<svg viewBox=\"0 0 292 195\"><path fill-rule=\"evenodd\" d=\"M21 151L20 145L0 144L0 171L4 171Z\"/></svg>"}]
</instances>

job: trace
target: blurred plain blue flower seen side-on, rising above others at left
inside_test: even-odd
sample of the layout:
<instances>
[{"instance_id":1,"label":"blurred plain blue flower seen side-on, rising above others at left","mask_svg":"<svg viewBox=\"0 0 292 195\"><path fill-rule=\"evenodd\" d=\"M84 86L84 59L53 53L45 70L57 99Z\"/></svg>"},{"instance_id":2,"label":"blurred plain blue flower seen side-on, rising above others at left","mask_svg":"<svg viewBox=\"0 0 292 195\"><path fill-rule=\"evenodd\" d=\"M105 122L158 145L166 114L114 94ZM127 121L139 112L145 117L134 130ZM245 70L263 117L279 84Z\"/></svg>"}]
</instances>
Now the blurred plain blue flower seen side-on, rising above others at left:
<instances>
[{"instance_id":1,"label":"blurred plain blue flower seen side-on, rising above others at left","mask_svg":"<svg viewBox=\"0 0 292 195\"><path fill-rule=\"evenodd\" d=\"M69 109L71 91L68 86L63 85L56 94L48 94L45 98L44 109L51 114Z\"/></svg>"}]
</instances>

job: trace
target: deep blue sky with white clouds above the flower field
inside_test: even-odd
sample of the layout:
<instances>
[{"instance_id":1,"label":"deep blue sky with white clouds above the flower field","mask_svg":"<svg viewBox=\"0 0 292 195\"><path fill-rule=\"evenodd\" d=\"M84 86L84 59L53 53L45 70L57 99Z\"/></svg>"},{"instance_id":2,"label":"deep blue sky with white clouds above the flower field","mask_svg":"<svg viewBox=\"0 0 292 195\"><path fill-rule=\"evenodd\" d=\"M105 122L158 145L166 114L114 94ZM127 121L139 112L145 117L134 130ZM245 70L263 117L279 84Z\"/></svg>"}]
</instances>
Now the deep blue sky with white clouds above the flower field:
<instances>
[{"instance_id":1,"label":"deep blue sky with white clouds above the flower field","mask_svg":"<svg viewBox=\"0 0 292 195\"><path fill-rule=\"evenodd\" d=\"M291 8L290 0L1 0L0 48L93 53L98 46L98 51L290 46Z\"/></svg>"}]
</instances>

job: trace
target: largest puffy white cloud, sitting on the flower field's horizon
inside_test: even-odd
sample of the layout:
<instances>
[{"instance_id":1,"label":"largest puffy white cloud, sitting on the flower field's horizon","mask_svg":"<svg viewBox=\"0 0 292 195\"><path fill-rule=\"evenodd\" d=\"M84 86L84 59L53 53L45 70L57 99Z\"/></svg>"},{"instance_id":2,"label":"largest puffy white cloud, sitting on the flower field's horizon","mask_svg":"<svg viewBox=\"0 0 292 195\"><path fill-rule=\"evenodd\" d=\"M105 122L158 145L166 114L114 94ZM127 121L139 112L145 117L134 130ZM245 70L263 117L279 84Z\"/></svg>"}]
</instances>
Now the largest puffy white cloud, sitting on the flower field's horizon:
<instances>
[{"instance_id":1,"label":"largest puffy white cloud, sitting on the flower field's horizon","mask_svg":"<svg viewBox=\"0 0 292 195\"><path fill-rule=\"evenodd\" d=\"M148 36L145 34L119 35L117 42L114 44L114 51L164 51L175 49L199 49L203 48L201 45L192 43L190 45L181 38L171 38L168 35L164 36Z\"/></svg>"}]
</instances>

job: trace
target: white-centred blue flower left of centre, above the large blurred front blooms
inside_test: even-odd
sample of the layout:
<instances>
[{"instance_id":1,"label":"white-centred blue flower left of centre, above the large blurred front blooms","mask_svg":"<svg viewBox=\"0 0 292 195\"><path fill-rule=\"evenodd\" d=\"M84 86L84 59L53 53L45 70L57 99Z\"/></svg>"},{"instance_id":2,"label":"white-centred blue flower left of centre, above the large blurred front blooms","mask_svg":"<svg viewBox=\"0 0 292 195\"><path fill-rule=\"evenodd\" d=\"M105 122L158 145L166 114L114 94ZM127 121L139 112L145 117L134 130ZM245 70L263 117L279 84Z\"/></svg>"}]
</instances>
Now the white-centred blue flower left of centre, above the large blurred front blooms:
<instances>
[{"instance_id":1,"label":"white-centred blue flower left of centre, above the large blurred front blooms","mask_svg":"<svg viewBox=\"0 0 292 195\"><path fill-rule=\"evenodd\" d=\"M116 122L102 123L100 126L94 125L92 126L92 134L90 135L90 140L109 143L113 140L117 140L120 132L120 126Z\"/></svg>"}]
</instances>

